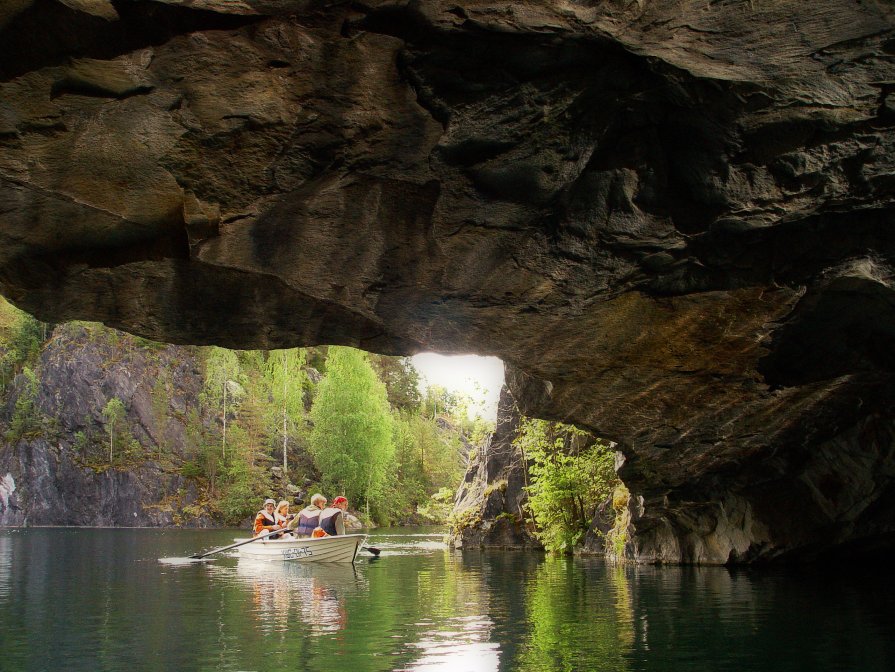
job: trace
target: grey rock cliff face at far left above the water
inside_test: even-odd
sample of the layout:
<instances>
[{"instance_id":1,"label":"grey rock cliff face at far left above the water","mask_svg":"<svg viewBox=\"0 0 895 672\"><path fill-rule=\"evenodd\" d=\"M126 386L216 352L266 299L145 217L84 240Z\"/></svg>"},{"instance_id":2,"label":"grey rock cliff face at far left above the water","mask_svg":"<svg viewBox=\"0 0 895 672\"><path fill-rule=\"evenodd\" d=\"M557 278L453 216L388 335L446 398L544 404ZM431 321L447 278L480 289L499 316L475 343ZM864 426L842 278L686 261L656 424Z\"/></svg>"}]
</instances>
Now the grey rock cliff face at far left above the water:
<instances>
[{"instance_id":1,"label":"grey rock cliff face at far left above the water","mask_svg":"<svg viewBox=\"0 0 895 672\"><path fill-rule=\"evenodd\" d=\"M78 325L54 332L41 354L33 402L33 416L52 422L0 444L0 526L211 524L207 516L184 513L191 506L199 511L200 493L179 469L124 455L130 440L141 444L141 453L161 442L169 456L183 454L188 406L197 404L201 386L196 361L176 346L128 350L127 343L94 339ZM0 429L10 427L17 400L28 394L21 376L17 382L0 412ZM164 386L164 409L153 403L158 386ZM102 409L113 397L127 409L115 458L127 469L94 465L108 458Z\"/></svg>"}]
</instances>

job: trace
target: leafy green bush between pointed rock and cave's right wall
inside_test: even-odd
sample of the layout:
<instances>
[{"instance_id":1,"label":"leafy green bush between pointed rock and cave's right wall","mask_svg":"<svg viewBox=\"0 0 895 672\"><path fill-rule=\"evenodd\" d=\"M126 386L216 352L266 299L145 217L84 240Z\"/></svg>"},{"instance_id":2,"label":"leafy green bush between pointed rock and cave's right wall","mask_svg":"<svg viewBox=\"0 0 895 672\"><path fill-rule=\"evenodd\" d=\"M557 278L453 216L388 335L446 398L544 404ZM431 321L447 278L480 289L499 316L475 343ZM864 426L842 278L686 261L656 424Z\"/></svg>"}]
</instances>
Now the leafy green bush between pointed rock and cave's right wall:
<instances>
[{"instance_id":1,"label":"leafy green bush between pointed rock and cave's right wall","mask_svg":"<svg viewBox=\"0 0 895 672\"><path fill-rule=\"evenodd\" d=\"M545 548L570 553L618 483L610 447L571 425L523 419L514 445L529 462L529 510Z\"/></svg>"}]
</instances>

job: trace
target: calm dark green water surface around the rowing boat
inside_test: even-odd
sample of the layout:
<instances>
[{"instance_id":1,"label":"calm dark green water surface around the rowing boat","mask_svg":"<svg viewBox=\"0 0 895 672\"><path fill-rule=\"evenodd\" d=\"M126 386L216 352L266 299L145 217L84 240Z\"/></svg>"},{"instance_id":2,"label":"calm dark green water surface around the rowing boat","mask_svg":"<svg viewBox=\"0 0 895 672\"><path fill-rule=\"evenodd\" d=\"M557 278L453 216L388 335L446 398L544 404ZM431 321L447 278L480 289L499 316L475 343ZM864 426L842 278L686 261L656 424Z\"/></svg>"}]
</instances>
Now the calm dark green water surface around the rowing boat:
<instances>
[{"instance_id":1,"label":"calm dark green water surface around the rowing boat","mask_svg":"<svg viewBox=\"0 0 895 672\"><path fill-rule=\"evenodd\" d=\"M354 567L159 561L233 537L0 530L0 671L895 669L895 582L860 566L615 568L432 530Z\"/></svg>"}]
</instances>

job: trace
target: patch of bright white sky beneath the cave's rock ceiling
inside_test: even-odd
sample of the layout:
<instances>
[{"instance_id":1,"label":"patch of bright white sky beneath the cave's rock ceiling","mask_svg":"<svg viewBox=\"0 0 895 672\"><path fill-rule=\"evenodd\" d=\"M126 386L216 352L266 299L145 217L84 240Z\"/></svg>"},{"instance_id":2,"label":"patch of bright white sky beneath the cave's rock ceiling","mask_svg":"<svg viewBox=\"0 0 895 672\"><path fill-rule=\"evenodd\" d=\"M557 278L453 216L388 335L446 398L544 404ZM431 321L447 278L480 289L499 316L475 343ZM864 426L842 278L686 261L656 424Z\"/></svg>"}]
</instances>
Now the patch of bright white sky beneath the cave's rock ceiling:
<instances>
[{"instance_id":1,"label":"patch of bright white sky beneath the cave's rock ceiling","mask_svg":"<svg viewBox=\"0 0 895 672\"><path fill-rule=\"evenodd\" d=\"M503 387L503 362L500 359L423 352L411 360L420 374L421 392L429 385L441 385L450 392L467 394L473 400L470 413L477 413L486 420L497 419L497 399Z\"/></svg>"}]
</instances>

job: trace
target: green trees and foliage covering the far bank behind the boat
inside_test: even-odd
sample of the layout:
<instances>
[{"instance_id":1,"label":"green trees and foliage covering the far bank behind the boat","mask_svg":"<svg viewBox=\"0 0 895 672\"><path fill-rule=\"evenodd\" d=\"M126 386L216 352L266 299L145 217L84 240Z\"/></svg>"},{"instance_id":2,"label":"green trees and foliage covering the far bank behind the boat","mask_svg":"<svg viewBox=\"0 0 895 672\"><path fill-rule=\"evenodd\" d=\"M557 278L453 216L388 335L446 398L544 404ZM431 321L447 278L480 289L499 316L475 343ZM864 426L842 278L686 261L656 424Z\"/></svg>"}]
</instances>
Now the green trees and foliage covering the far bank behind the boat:
<instances>
[{"instance_id":1,"label":"green trees and foliage covering the far bank behind the boat","mask_svg":"<svg viewBox=\"0 0 895 672\"><path fill-rule=\"evenodd\" d=\"M443 388L431 388L424 403L409 358L338 347L194 348L203 365L199 403L186 399L187 408L173 412L182 408L172 405L172 395L186 370L174 361L175 349L99 323L60 325L54 334L66 345L88 340L110 370L133 365L153 372L148 391L156 446L134 438L124 403L110 399L101 424L93 409L69 438L78 459L94 469L113 461L123 468L151 454L164 468L195 479L210 509L228 522L252 514L262 493L282 488L271 471L277 463L290 481L319 483L329 496L344 493L353 508L367 505L379 522L413 520L417 512L441 520L467 461L466 437L491 429L467 417L467 399ZM45 336L46 325L0 299L0 387L19 374L24 381L16 384L8 439L52 430L36 405ZM325 373L322 381L308 375L311 366ZM181 424L179 454L181 441L173 439Z\"/></svg>"}]
</instances>

